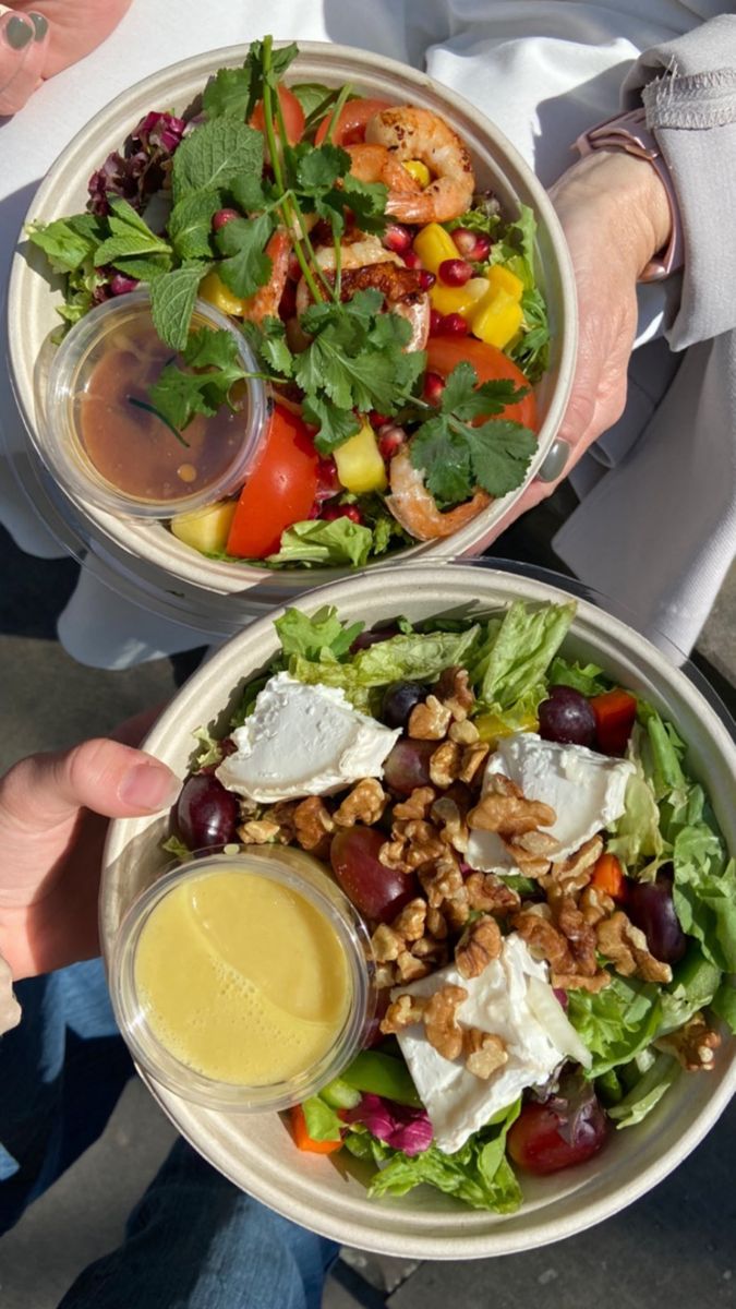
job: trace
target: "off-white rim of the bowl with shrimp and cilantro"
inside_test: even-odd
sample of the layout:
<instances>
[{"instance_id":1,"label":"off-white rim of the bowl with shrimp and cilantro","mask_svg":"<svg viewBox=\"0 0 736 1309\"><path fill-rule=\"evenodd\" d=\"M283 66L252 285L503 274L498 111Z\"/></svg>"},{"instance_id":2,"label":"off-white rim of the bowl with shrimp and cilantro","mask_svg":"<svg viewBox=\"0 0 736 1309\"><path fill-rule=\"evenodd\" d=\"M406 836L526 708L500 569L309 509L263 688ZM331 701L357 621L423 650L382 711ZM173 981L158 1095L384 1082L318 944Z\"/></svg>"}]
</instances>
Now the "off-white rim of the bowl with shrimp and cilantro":
<instances>
[{"instance_id":1,"label":"off-white rim of the bowl with shrimp and cilantro","mask_svg":"<svg viewBox=\"0 0 736 1309\"><path fill-rule=\"evenodd\" d=\"M279 42L276 45L285 43ZM576 295L572 264L567 243L562 233L562 226L547 192L536 178L529 165L517 152L516 147L508 141L504 134L500 132L499 128L495 127L495 124L483 114L479 114L475 107L465 99L465 97L444 86L441 82L435 81L426 73L411 68L407 64L402 64L398 60L368 54L356 47L342 46L331 42L306 41L299 42L299 58L303 59L306 65L305 76L308 68L310 68L314 62L322 60L322 63L326 63L327 65L326 69L323 69L325 76L330 76L330 67L333 67L335 68L335 73L342 76L342 80L344 80L347 73L344 72L344 68L340 72L340 65L348 64L351 68L356 69L354 73L356 79L360 76L360 71L367 71L375 79L389 81L392 79L394 81L398 80L402 89L406 84L409 84L410 86L414 86L418 93L439 97L444 101L448 110L454 117L456 123L460 120L457 124L458 131L462 131L462 124L465 124L470 134L474 132L475 135L483 137L490 156L498 156L500 153L498 169L509 190L513 190L515 194L521 191L530 199L540 228L543 228L545 243L547 245L554 260L553 266L549 267L547 285L550 289L553 285L555 288L555 304L558 305L561 322L557 329L557 338L559 342L558 376L554 389L550 386L549 407L545 421L538 433L538 448L529 465L524 483L528 486L536 475L542 459L551 446L557 431L559 429L572 386L578 340ZM190 56L189 59L179 60L168 68L158 69L156 73L141 79L128 90L117 96L72 137L72 140L58 156L46 178L37 190L24 219L22 226L25 226L25 224L30 221L35 216L37 211L45 204L50 203L51 208L54 207L54 194L60 179L64 173L69 170L69 168L73 168L76 171L81 171L83 166L84 169L89 168L86 158L90 139L94 141L96 137L107 132L118 132L119 136L120 119L123 119L126 113L128 117L131 115L132 111L130 105L131 102L135 102L136 97L161 96L165 98L169 89L172 90L172 94L175 94L175 86L185 79L196 77L198 84L204 85L207 76L217 67L227 67L242 62L248 50L249 43L244 43L225 46ZM299 62L292 67L299 71ZM51 212L48 219L55 216L56 215ZM28 287L41 274L38 270L33 268L28 263L24 247L18 246L13 254L8 285L8 353L10 364L10 384L26 432L33 432L37 423L37 406L34 401L35 387L33 380L37 359L31 361L28 360L26 352L22 348L21 335L13 331L13 323L21 321L22 305L25 298L28 298ZM423 559L427 556L431 559L441 559L451 558L461 551L468 554L481 552L490 543L490 538L494 538L498 534L499 522L511 508L511 500L516 501L519 495L521 495L521 491L523 487L515 492L509 492L509 496L495 501L495 505L498 507L495 509L495 516L491 518L488 525L479 529L479 537L477 535L478 520L483 518L485 514L494 514L494 505L483 511L482 514L466 525L466 528L444 541L418 542L398 551L396 555L396 564L392 562L392 567L402 563L411 563L413 559ZM248 592L250 589L255 588L263 596L263 592L270 588L268 602L280 603L282 598L285 596L301 593L303 590L309 589L314 581L314 575L309 569L292 568L276 571L248 564L229 564L223 560L210 560L204 556L196 555L196 552L189 547L181 546L179 550L179 543L172 545L168 539L169 534L165 533L165 529L161 525L149 525L149 529L152 528L152 530L147 530L145 525L141 525L140 522L138 525L134 525L130 520L128 524L124 521L120 522L117 516L103 511L97 511L94 507L80 503L76 499L72 500L72 504L77 514L81 516L86 530L93 538L93 548L94 543L100 542L103 547L113 547L113 556L124 552L128 556L128 560L132 558L136 564L138 560L141 560L141 567L153 568L156 572L161 571L166 577L172 579L172 581L183 583L187 588L200 592L204 598L210 594L217 597L224 594L230 597L233 603L237 603L244 597L248 597ZM141 533L144 534L141 535ZM145 554L140 550L141 542L145 542ZM384 563L385 562L381 559L372 560L368 564L368 568L382 567ZM321 568L318 571L318 584L339 581L344 576L350 576L350 573L346 573L344 569ZM147 600L149 600L148 596ZM259 600L259 603L262 602L263 601ZM182 615L182 622L186 622L186 614Z\"/></svg>"}]
</instances>

